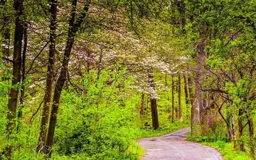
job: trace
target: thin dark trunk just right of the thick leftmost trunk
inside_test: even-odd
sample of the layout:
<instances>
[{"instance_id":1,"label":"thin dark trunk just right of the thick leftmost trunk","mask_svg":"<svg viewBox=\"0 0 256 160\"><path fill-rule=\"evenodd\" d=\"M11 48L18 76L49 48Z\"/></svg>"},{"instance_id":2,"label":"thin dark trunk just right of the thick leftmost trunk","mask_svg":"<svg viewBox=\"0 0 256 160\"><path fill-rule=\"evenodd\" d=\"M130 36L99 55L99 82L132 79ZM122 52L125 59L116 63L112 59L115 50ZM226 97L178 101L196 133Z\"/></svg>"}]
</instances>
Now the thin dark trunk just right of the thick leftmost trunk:
<instances>
[{"instance_id":1,"label":"thin dark trunk just right of the thick leftmost trunk","mask_svg":"<svg viewBox=\"0 0 256 160\"><path fill-rule=\"evenodd\" d=\"M25 95L25 79L26 79L26 49L28 46L28 37L27 37L27 23L24 23L24 45L23 45L23 52L22 52L22 64L21 64L21 97L20 97L20 104L21 106L18 108L18 125L17 125L17 132L19 131L19 127L21 127L21 118L22 118L22 108L24 103L24 95Z\"/></svg>"}]
</instances>

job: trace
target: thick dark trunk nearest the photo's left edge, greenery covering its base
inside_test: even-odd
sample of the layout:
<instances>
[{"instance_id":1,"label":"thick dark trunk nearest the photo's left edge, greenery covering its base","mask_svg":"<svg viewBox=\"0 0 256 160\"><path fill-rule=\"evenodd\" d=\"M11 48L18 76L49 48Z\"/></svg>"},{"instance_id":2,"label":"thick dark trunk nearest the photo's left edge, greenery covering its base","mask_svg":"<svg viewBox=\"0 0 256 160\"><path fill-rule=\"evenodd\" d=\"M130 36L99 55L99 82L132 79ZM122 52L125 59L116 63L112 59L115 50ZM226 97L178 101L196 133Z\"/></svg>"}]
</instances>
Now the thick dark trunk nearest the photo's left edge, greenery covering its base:
<instances>
[{"instance_id":1,"label":"thick dark trunk nearest the photo's left edge, greenery covering its base","mask_svg":"<svg viewBox=\"0 0 256 160\"><path fill-rule=\"evenodd\" d=\"M23 15L23 1L14 1L14 10L16 11L15 30L14 30L14 59L13 59L13 79L12 88L9 92L7 119L6 125L8 139L15 128L16 108L18 104L18 84L21 82L21 55L22 55L22 38L23 38L23 22L21 16ZM6 147L6 156L11 157L11 147Z\"/></svg>"}]
</instances>

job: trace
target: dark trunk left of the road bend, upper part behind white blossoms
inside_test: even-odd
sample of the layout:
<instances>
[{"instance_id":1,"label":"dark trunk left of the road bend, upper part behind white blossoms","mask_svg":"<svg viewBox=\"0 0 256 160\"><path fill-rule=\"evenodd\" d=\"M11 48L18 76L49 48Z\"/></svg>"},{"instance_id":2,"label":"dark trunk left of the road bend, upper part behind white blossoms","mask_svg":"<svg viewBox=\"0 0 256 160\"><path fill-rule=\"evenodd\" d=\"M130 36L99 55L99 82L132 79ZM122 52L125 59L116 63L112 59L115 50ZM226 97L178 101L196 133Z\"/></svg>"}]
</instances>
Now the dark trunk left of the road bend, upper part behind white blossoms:
<instances>
[{"instance_id":1,"label":"dark trunk left of the road bend, upper part behind white blossoms","mask_svg":"<svg viewBox=\"0 0 256 160\"><path fill-rule=\"evenodd\" d=\"M154 93L155 92L155 86L154 86L154 72L153 72L153 69L149 69L148 76L149 76L149 91L151 91L150 102L151 102L152 126L153 126L154 130L157 130L159 128L159 120L158 120L156 97L155 97L156 93Z\"/></svg>"}]
</instances>

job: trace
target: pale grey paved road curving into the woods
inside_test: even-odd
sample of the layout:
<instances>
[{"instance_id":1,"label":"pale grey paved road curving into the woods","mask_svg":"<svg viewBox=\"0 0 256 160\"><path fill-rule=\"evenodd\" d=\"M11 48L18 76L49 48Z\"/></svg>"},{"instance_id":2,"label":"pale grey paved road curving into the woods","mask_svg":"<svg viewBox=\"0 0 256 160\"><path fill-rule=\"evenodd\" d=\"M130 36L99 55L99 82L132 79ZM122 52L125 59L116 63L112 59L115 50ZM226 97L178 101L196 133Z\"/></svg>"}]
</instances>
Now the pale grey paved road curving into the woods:
<instances>
[{"instance_id":1,"label":"pale grey paved road curving into the woods","mask_svg":"<svg viewBox=\"0 0 256 160\"><path fill-rule=\"evenodd\" d=\"M222 160L220 153L211 147L186 141L190 128L160 137L142 138L139 141L146 154L142 160Z\"/></svg>"}]
</instances>

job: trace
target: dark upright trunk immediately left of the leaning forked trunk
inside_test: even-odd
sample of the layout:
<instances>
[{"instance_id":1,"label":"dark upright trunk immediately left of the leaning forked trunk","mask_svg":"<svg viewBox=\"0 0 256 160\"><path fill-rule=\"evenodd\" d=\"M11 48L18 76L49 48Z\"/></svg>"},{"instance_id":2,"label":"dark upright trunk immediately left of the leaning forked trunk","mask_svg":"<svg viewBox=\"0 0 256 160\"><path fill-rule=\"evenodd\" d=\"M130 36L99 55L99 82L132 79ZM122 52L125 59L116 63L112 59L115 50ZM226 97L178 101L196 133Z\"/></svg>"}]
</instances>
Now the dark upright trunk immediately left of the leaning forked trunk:
<instances>
[{"instance_id":1,"label":"dark upright trunk immediately left of the leaning forked trunk","mask_svg":"<svg viewBox=\"0 0 256 160\"><path fill-rule=\"evenodd\" d=\"M48 68L47 68L47 78L46 78L46 93L44 96L43 103L43 113L41 115L41 127L40 135L38 138L38 147L36 152L44 150L46 144L46 133L47 125L49 120L49 110L50 110L50 101L53 91L53 76L54 76L54 62L55 62L55 44L56 44L56 18L57 18L57 0L50 1L50 48L48 54Z\"/></svg>"}]
</instances>

